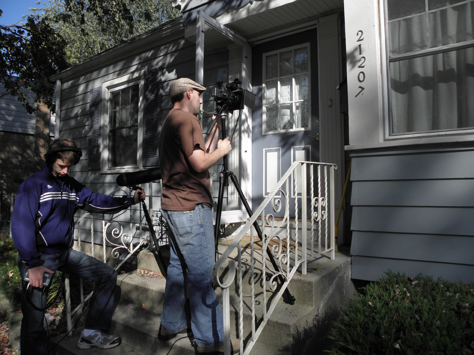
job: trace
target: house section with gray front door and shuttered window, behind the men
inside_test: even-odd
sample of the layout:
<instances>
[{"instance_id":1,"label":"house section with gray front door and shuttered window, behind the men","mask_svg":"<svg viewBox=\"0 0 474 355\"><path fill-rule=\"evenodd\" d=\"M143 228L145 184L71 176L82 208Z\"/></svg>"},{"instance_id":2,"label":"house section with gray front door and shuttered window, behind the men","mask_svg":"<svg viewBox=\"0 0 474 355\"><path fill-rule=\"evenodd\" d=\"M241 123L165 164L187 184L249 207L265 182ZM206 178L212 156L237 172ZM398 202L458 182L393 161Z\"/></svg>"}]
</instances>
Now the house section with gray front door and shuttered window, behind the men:
<instances>
[{"instance_id":1,"label":"house section with gray front door and shuttered window, behind the men","mask_svg":"<svg viewBox=\"0 0 474 355\"><path fill-rule=\"evenodd\" d=\"M157 137L172 107L172 81L189 77L208 88L201 117L206 132L216 106L212 89L238 78L256 102L226 119L233 145L228 164L250 206L258 206L297 160L338 164L339 206L346 179L338 90L345 71L343 2L175 5L182 17L52 77L58 135L75 139L84 151L74 177L111 193L119 174L157 167ZM212 171L216 200L221 168ZM158 209L159 183L145 188L152 197L150 209ZM232 184L223 205L221 223L238 225L248 218ZM294 214L293 196L289 205ZM344 243L342 215L339 243ZM102 226L94 223L100 235Z\"/></svg>"}]
</instances>

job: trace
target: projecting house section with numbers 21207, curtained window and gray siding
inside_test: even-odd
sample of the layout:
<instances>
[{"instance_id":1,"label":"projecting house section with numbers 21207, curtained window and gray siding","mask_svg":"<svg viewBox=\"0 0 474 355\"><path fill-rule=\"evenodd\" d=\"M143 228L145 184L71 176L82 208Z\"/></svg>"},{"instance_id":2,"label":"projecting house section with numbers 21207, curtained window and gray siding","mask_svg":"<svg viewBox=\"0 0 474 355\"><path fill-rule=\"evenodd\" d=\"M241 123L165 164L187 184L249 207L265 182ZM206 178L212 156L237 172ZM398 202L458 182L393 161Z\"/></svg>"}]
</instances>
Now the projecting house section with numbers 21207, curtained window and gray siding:
<instances>
[{"instance_id":1,"label":"projecting house section with numbers 21207, curtained window and gray siding","mask_svg":"<svg viewBox=\"0 0 474 355\"><path fill-rule=\"evenodd\" d=\"M474 280L473 6L344 3L353 278Z\"/></svg>"}]
</instances>

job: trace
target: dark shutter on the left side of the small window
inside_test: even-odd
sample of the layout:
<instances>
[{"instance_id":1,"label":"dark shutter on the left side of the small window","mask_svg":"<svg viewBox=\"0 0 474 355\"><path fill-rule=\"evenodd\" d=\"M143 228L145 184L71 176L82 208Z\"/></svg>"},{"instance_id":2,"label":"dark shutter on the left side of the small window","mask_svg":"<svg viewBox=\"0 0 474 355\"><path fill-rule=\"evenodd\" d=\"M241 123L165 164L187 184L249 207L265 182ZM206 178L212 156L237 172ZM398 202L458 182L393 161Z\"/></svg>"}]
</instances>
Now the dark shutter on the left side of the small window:
<instances>
[{"instance_id":1,"label":"dark shutter on the left side of the small window","mask_svg":"<svg viewBox=\"0 0 474 355\"><path fill-rule=\"evenodd\" d=\"M89 108L89 169L101 169L101 96L102 88L91 90Z\"/></svg>"}]
</instances>

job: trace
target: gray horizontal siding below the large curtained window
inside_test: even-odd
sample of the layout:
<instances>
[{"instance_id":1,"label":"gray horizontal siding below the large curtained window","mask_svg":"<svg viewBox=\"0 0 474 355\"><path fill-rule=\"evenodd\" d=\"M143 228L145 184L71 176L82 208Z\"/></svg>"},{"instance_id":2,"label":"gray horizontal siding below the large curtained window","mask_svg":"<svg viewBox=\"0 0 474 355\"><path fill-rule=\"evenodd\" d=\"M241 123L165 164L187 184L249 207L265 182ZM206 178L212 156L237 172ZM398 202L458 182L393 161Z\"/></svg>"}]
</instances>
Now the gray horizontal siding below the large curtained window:
<instances>
[{"instance_id":1,"label":"gray horizontal siding below the large curtained window","mask_svg":"<svg viewBox=\"0 0 474 355\"><path fill-rule=\"evenodd\" d=\"M352 277L474 280L474 148L352 153Z\"/></svg>"}]
</instances>

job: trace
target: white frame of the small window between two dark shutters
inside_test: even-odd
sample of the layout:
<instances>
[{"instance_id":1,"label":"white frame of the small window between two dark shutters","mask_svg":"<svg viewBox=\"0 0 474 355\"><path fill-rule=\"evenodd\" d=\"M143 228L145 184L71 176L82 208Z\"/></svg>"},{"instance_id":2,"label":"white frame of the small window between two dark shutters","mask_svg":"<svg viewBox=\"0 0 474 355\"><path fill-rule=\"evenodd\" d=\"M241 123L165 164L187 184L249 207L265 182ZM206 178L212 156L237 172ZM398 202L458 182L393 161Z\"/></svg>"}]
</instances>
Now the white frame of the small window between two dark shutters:
<instances>
[{"instance_id":1,"label":"white frame of the small window between two dark shutters","mask_svg":"<svg viewBox=\"0 0 474 355\"><path fill-rule=\"evenodd\" d=\"M112 167L110 146L110 119L109 119L109 98L110 92L138 84L138 132L137 132L137 152L136 165ZM127 73L117 78L105 81L102 84L102 116L101 116L101 173L122 173L138 171L143 168L143 107L145 97L145 69Z\"/></svg>"}]
</instances>

